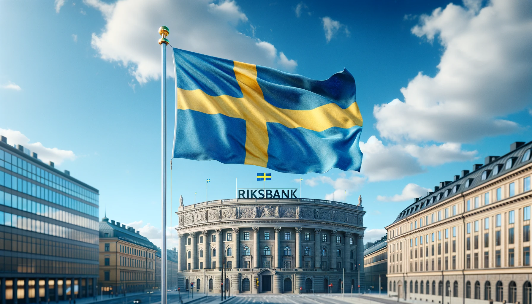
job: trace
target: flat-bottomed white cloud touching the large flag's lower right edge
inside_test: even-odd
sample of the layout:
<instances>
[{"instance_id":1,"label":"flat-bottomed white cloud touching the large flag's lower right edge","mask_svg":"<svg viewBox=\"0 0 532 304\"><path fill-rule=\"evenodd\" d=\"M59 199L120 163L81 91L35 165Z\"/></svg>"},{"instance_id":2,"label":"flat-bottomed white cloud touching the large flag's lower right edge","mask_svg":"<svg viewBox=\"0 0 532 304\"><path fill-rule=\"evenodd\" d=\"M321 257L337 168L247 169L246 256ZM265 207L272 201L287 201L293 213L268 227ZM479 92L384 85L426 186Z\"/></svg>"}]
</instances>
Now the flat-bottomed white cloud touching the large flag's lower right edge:
<instances>
[{"instance_id":1,"label":"flat-bottomed white cloud touching the large flag's lower right edge","mask_svg":"<svg viewBox=\"0 0 532 304\"><path fill-rule=\"evenodd\" d=\"M453 161L469 161L477 151L463 151L460 144L417 146L413 144L384 145L375 136L360 142L363 153L361 173L369 182L400 179L424 172L426 166L438 166Z\"/></svg>"}]
</instances>

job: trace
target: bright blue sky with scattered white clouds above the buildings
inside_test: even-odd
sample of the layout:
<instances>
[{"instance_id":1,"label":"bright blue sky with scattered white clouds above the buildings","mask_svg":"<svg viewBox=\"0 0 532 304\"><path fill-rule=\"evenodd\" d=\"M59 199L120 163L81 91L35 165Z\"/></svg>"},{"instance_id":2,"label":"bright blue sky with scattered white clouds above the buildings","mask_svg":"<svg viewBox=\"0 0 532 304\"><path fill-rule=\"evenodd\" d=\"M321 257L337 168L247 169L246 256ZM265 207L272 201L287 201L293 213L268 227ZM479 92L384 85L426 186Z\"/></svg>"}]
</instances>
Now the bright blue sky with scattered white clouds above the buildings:
<instances>
[{"instance_id":1,"label":"bright blue sky with scattered white clouds above the buildings","mask_svg":"<svg viewBox=\"0 0 532 304\"><path fill-rule=\"evenodd\" d=\"M532 139L531 20L530 3L503 0L4 1L0 133L98 188L101 217L160 244L159 26L174 47L314 79L345 67L364 119L362 172L304 175L303 196L362 195L375 240L427 188ZM172 171L176 207L179 195L203 201L206 178L209 199L225 199L236 178L255 187L271 172L182 159ZM271 173L271 187L299 186Z\"/></svg>"}]
</instances>

